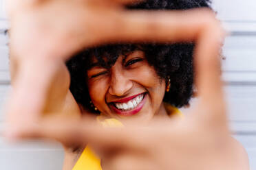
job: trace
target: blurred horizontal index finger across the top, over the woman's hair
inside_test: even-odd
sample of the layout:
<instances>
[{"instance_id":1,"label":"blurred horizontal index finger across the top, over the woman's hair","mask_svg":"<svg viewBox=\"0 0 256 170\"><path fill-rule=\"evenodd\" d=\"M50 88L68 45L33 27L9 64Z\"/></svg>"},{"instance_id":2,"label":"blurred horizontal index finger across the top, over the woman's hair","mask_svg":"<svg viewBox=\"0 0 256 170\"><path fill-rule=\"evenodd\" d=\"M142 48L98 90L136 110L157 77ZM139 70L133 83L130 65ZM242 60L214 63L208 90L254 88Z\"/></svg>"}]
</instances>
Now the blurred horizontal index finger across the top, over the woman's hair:
<instances>
[{"instance_id":1,"label":"blurred horizontal index finger across the top, over the woman's hair","mask_svg":"<svg viewBox=\"0 0 256 170\"><path fill-rule=\"evenodd\" d=\"M112 42L184 42L196 40L207 20L213 19L210 10L186 11L125 11L113 16L114 22L104 22L104 38Z\"/></svg>"}]
</instances>

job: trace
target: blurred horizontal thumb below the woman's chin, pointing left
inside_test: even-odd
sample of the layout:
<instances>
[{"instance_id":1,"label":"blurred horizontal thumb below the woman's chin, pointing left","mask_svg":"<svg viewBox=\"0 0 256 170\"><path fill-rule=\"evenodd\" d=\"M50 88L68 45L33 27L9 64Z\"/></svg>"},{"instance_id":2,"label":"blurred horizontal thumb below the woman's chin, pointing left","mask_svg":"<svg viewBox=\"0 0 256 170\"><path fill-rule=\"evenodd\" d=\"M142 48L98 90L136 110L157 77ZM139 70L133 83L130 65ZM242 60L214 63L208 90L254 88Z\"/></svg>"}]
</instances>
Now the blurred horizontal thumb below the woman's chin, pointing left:
<instances>
[{"instance_id":1,"label":"blurred horizontal thumb below the woman's chin, pointing left","mask_svg":"<svg viewBox=\"0 0 256 170\"><path fill-rule=\"evenodd\" d=\"M14 138L49 138L65 145L89 143L100 149L144 149L151 130L143 127L102 127L94 118L86 120L51 117L31 124Z\"/></svg>"}]
</instances>

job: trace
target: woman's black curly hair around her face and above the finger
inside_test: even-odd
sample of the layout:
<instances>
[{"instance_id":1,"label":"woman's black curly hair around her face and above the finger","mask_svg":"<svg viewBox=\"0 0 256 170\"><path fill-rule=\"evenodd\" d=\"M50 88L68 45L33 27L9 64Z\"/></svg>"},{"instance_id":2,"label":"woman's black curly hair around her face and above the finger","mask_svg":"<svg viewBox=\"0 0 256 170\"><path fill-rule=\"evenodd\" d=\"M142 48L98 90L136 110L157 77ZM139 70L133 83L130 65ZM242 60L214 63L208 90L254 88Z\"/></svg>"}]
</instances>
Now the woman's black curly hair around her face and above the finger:
<instances>
[{"instance_id":1,"label":"woman's black curly hair around her face and above the finger","mask_svg":"<svg viewBox=\"0 0 256 170\"><path fill-rule=\"evenodd\" d=\"M147 0L127 6L129 10L187 10L191 8L211 8L211 0ZM67 61L71 75L70 91L76 102L83 108L95 112L89 104L87 88L89 61L96 57L102 66L110 68L120 54L140 49L150 65L154 66L160 80L171 79L169 93L164 95L164 102L176 107L189 104L193 94L193 42L175 44L115 44L85 49ZM102 58L104 55L104 59ZM106 60L107 59L107 60Z\"/></svg>"}]
</instances>

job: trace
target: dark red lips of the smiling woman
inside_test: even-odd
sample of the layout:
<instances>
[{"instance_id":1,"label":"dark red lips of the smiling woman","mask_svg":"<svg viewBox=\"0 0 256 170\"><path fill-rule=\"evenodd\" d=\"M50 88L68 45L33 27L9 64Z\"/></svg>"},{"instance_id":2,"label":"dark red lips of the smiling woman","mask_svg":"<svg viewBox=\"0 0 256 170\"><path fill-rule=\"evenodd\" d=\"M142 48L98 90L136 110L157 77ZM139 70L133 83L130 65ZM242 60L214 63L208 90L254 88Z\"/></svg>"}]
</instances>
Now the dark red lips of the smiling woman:
<instances>
[{"instance_id":1,"label":"dark red lips of the smiling woman","mask_svg":"<svg viewBox=\"0 0 256 170\"><path fill-rule=\"evenodd\" d=\"M140 93L140 95L143 94L143 93ZM138 95L135 95L135 97L138 96ZM127 98L130 98L130 99L133 99L134 97L127 97ZM126 99L127 99L126 98ZM123 110L120 110L118 108L116 108L116 106L114 106L114 104L110 104L110 107L116 112L116 114L120 114L122 116L131 116L131 115L134 115L134 114L137 114L138 112L140 112L140 110L143 108L143 106L145 105L145 102L146 102L146 99L147 99L147 93L145 93L145 96L144 98L142 99L142 101L140 102L140 104L138 104L138 106L136 106L136 108L132 109L132 110L127 110L127 111L123 111ZM127 101L127 100L126 100ZM128 100L129 101L129 100ZM117 103L117 101L114 101Z\"/></svg>"}]
</instances>

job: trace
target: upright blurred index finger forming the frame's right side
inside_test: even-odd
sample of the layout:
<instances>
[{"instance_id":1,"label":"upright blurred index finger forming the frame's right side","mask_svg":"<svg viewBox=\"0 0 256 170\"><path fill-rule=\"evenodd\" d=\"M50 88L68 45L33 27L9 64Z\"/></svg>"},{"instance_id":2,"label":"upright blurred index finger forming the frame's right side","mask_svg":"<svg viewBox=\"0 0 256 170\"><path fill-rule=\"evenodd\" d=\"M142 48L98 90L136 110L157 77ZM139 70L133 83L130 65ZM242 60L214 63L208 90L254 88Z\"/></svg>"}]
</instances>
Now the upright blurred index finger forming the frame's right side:
<instances>
[{"instance_id":1,"label":"upright blurred index finger forming the frame's right side","mask_svg":"<svg viewBox=\"0 0 256 170\"><path fill-rule=\"evenodd\" d=\"M200 107L208 108L214 114L207 115L222 120L226 111L220 73L223 35L222 29L213 23L200 33L195 49L195 84L200 97Z\"/></svg>"}]
</instances>

